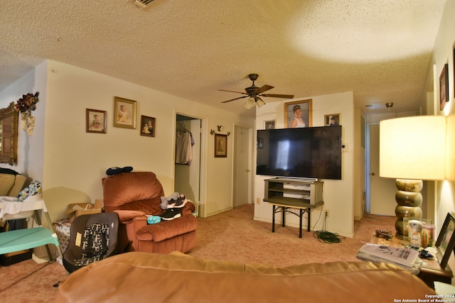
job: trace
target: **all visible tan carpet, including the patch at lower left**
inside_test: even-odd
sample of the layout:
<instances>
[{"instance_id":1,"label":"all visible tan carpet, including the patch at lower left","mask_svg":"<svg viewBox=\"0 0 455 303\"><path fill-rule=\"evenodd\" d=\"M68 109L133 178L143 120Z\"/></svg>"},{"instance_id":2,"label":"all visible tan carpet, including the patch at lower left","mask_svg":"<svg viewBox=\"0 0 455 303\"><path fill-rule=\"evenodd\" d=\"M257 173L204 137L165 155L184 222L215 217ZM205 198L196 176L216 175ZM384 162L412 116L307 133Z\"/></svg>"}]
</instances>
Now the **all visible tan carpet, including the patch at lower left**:
<instances>
[{"instance_id":1,"label":"all visible tan carpet, including the patch at lower left","mask_svg":"<svg viewBox=\"0 0 455 303\"><path fill-rule=\"evenodd\" d=\"M355 255L363 242L370 240L378 228L395 229L395 217L366 215L355 221L355 236L340 243L323 243L314 232L294 227L253 220L254 205L244 205L223 214L198 218L198 244L189 255L195 258L231 260L240 263L265 263L277 267L325 263L337 260L358 261ZM52 302L58 288L53 287L67 277L58 263L37 264L26 260L15 265L0 266L1 302Z\"/></svg>"}]
</instances>

